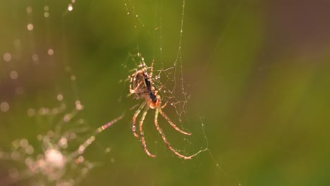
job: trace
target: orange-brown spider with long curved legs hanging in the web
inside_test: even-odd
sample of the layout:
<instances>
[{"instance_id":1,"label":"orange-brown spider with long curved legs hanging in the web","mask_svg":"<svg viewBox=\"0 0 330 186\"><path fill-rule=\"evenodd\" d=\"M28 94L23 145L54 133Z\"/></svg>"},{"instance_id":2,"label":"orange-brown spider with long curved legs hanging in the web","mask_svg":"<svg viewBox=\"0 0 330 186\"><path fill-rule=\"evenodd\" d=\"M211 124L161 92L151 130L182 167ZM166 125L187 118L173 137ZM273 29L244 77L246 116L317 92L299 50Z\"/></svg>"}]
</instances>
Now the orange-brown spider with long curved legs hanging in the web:
<instances>
[{"instance_id":1,"label":"orange-brown spider with long curved legs hanging in the web","mask_svg":"<svg viewBox=\"0 0 330 186\"><path fill-rule=\"evenodd\" d=\"M130 75L130 94L135 94L135 99L144 99L142 104L140 104L140 107L138 108L138 110L136 110L133 115L133 126L132 126L133 134L135 135L135 137L140 138L140 140L142 142L142 148L145 150L145 153L148 156L156 157L156 155L151 154L148 151L147 144L145 143L145 135L144 135L144 131L143 131L143 121L145 120L147 111L149 109L155 109L154 125L156 126L159 134L161 135L161 138L163 138L166 146L171 151L173 151L173 153L176 154L176 156L179 156L182 159L191 159L193 156L184 156L183 154L180 154L178 151L173 149L173 147L171 147L171 144L169 144L169 142L166 140L163 130L161 130L161 128L158 125L158 115L160 113L161 116L163 116L167 120L167 122L169 122L169 124L172 126L172 128L174 128L178 132L181 132L184 135L191 135L191 133L185 132L185 131L181 130L180 128L178 128L170 120L170 118L168 116L166 116L166 114L161 110L161 109L164 109L167 102L165 104L161 105L161 97L159 95L157 95L158 91L156 89L154 89L154 87L152 87L151 77L152 77L153 64L154 64L154 61L152 61L150 74L147 73L147 68L142 68L141 70L137 70L135 73L133 73L133 75ZM145 64L144 64L144 66L145 66ZM144 111L140 118L140 122L139 122L140 135L138 135L138 133L136 131L135 122L136 122L136 118L138 117L138 115L140 114L142 109L144 109Z\"/></svg>"}]
</instances>

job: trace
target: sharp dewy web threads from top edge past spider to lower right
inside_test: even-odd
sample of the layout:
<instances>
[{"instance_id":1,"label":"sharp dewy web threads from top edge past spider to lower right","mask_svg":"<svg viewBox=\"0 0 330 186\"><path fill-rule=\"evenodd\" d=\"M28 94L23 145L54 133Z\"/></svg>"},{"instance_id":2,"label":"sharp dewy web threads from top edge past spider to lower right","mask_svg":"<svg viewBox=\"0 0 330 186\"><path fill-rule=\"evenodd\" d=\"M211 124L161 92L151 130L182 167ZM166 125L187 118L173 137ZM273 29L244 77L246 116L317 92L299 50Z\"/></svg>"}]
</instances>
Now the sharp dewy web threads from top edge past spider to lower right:
<instances>
[{"instance_id":1,"label":"sharp dewy web threads from top edge past spider to lower right","mask_svg":"<svg viewBox=\"0 0 330 186\"><path fill-rule=\"evenodd\" d=\"M183 149L179 151L183 151L184 154L192 154L194 153L192 151L195 151L193 156L197 157L193 159L196 158L198 159L197 161L199 161L198 163L201 163L200 166L197 166L199 168L202 167L202 160L200 160L198 156L203 156L200 153L207 154L208 161L211 161L211 164L219 171L217 174L224 175L225 178L231 180L230 182L234 185L240 185L240 182L236 180L236 178L224 171L224 168L216 162L212 151L209 149L209 140L204 129L204 117L200 114L194 117L188 111L190 96L192 94L190 87L193 86L190 84L194 84L195 82L185 79L189 74L184 70L185 62L187 61L183 58L182 49L185 30L186 1L183 0L171 4L171 8L175 10L174 12L180 15L177 16L181 18L179 20L166 20L166 17L163 15L165 13L163 13L162 10L166 3L163 1L153 1L151 4L148 4L149 6L146 6L146 4L146 2L125 1L126 14L133 20L135 35L139 35L140 37L138 37L139 39L135 49L130 51L129 62L123 63L123 67L128 68L128 66L130 66L128 63L131 62L134 67L129 68L131 69L128 70L129 72L134 73L139 69L146 69L147 72L150 73L150 68L153 66L152 83L156 89L159 89L158 94L161 95L162 101L166 101L166 103L171 106L171 108L166 109L166 111L172 111L171 113L175 111L176 117L174 117L174 120L180 123L179 125L181 125L181 128L194 130L195 137L197 136L195 139L183 138L186 143L181 146ZM169 21L171 22L170 24ZM171 27L171 29L169 29L169 27ZM166 34L169 32L174 32L174 34ZM149 39L145 39L145 37L149 37ZM166 38L166 42L169 41L168 39L171 39L170 46L167 43L164 44L164 38ZM147 44L145 40L147 40ZM150 42L152 44L150 44ZM173 114L171 114L171 116L173 117ZM166 122L166 120L163 122ZM173 134L170 136L173 137ZM158 141L161 141L161 139L155 140L156 144ZM176 141L174 140L172 144L177 143L176 145L178 145L179 141L180 140L176 138ZM166 151L166 149L164 149L164 151ZM184 167L187 168L188 165L185 164ZM195 167L193 170L196 171L197 169Z\"/></svg>"}]
</instances>

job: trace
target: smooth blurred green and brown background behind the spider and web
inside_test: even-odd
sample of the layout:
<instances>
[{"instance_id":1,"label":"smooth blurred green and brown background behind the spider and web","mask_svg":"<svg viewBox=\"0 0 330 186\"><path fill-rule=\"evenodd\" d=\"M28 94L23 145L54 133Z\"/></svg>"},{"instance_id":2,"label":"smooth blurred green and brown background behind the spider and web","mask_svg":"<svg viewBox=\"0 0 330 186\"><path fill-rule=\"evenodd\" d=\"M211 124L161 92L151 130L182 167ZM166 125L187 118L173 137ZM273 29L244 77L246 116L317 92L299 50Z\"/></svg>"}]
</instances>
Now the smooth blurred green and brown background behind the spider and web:
<instances>
[{"instance_id":1,"label":"smooth blurred green and brown background behind the spider and web","mask_svg":"<svg viewBox=\"0 0 330 186\"><path fill-rule=\"evenodd\" d=\"M329 2L186 1L182 37L182 1L78 0L70 12L68 4L1 0L0 102L10 105L0 111L2 150L11 151L17 138L37 146L36 136L54 122L29 118L26 111L58 106L61 92L68 107L82 102L79 117L90 131L126 111L85 151L97 167L79 185L330 185ZM140 103L126 97L125 80L136 68L130 54L138 48L148 65L154 58L156 69L171 68L180 38L191 97L178 125L193 135L184 137L164 118L159 123L183 153L193 154L207 142L209 151L178 159L157 134L149 111L145 134L148 149L157 154L152 159L130 129L129 109ZM53 56L47 55L50 48ZM66 64L72 71L66 72ZM17 80L8 78L11 70ZM181 73L171 75L181 85ZM178 123L172 106L164 111ZM0 166L6 175L16 164Z\"/></svg>"}]
</instances>

